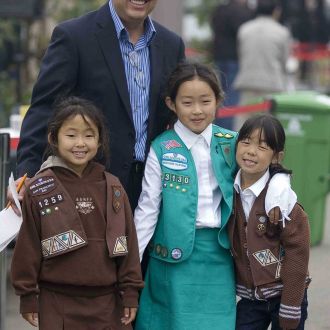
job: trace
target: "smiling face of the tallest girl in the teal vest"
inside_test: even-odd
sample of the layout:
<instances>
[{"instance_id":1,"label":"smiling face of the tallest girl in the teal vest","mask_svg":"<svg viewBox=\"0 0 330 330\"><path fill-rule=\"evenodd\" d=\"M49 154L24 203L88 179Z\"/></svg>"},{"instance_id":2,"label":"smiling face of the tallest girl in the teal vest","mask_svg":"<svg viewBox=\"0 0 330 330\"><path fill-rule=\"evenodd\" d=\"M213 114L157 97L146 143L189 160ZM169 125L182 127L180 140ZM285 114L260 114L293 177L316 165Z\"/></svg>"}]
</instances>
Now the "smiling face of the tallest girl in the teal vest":
<instances>
[{"instance_id":1,"label":"smiling face of the tallest girl in the teal vest","mask_svg":"<svg viewBox=\"0 0 330 330\"><path fill-rule=\"evenodd\" d=\"M183 82L174 102L167 97L166 104L181 123L195 134L202 133L213 122L217 109L214 91L198 78Z\"/></svg>"}]
</instances>

